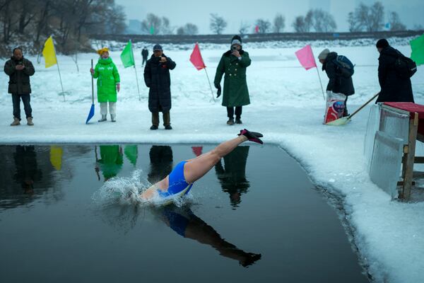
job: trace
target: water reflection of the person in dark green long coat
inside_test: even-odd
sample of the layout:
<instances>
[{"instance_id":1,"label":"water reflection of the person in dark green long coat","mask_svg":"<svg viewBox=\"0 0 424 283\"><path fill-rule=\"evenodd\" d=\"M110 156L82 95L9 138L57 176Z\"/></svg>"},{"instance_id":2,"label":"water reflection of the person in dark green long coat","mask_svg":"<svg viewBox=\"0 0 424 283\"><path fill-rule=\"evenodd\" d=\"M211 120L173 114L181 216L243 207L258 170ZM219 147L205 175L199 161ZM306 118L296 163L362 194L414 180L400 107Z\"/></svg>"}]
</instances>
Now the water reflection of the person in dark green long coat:
<instances>
[{"instance_id":1,"label":"water reflection of the person in dark green long coat","mask_svg":"<svg viewBox=\"0 0 424 283\"><path fill-rule=\"evenodd\" d=\"M247 192L249 181L246 179L246 163L249 155L249 146L237 146L230 154L216 163L215 171L224 192L230 194L232 207L241 202L242 193Z\"/></svg>"}]
</instances>

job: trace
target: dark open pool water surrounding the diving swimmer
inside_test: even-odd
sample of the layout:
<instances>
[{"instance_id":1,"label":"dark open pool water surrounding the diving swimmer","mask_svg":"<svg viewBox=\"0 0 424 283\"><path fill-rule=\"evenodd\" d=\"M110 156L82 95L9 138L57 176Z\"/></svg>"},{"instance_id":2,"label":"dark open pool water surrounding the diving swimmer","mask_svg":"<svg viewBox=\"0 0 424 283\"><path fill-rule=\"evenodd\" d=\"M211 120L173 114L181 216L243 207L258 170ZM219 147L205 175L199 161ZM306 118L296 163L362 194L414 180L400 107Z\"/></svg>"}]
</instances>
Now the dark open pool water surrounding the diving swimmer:
<instances>
[{"instance_id":1,"label":"dark open pool water surrounding the diving swimmer","mask_svg":"<svg viewBox=\"0 0 424 283\"><path fill-rule=\"evenodd\" d=\"M212 148L0 146L0 281L368 282L335 209L276 146L239 146L181 207L98 197Z\"/></svg>"}]
</instances>

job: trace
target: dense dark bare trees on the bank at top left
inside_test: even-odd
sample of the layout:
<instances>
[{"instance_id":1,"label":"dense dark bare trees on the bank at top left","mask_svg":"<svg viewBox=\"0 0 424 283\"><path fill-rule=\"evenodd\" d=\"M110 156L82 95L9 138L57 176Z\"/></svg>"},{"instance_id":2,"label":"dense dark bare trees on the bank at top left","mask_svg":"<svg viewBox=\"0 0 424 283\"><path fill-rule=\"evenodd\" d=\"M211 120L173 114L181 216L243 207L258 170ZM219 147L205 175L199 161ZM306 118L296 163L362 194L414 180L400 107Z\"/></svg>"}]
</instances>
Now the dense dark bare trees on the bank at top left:
<instances>
[{"instance_id":1,"label":"dense dark bare trees on the bank at top left","mask_svg":"<svg viewBox=\"0 0 424 283\"><path fill-rule=\"evenodd\" d=\"M89 48L88 34L122 33L125 13L114 0L0 0L0 41L40 52L49 35L64 54ZM0 50L0 54L10 50Z\"/></svg>"}]
</instances>

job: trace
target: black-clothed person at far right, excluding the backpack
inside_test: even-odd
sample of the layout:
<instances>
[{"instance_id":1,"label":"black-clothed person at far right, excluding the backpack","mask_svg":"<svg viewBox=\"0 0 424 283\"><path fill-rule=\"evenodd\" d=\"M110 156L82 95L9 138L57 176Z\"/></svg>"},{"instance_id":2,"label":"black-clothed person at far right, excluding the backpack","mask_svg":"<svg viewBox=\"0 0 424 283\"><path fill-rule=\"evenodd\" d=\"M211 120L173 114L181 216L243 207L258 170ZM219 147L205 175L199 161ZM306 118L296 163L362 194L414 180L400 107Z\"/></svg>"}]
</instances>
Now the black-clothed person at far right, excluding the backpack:
<instances>
[{"instance_id":1,"label":"black-clothed person at far right, excluding the backpack","mask_svg":"<svg viewBox=\"0 0 424 283\"><path fill-rule=\"evenodd\" d=\"M377 41L378 58L378 81L382 90L379 93L378 102L413 102L411 79L403 79L394 69L394 62L401 56L401 52L395 50L385 39Z\"/></svg>"}]
</instances>

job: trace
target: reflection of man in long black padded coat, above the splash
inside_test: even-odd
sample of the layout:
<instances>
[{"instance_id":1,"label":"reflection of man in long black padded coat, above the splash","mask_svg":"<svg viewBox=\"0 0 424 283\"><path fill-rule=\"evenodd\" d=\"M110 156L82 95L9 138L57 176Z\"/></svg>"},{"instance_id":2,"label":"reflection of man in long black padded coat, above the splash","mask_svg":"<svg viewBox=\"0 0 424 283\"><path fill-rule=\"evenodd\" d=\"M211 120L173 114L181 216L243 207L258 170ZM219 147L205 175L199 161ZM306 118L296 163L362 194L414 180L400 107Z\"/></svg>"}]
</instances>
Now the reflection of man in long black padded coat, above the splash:
<instances>
[{"instance_id":1,"label":"reflection of man in long black padded coat, above the splash","mask_svg":"<svg viewBox=\"0 0 424 283\"><path fill-rule=\"evenodd\" d=\"M151 166L147 180L154 184L165 178L172 171L171 146L152 146L149 156Z\"/></svg>"}]
</instances>

